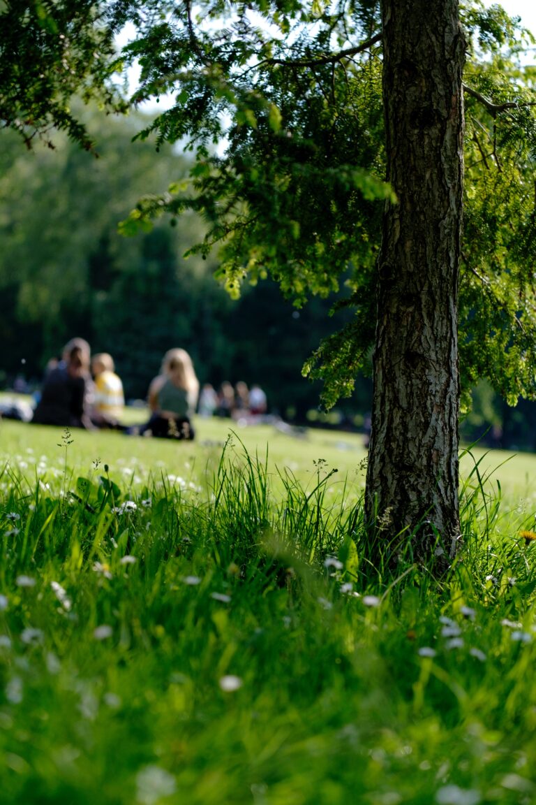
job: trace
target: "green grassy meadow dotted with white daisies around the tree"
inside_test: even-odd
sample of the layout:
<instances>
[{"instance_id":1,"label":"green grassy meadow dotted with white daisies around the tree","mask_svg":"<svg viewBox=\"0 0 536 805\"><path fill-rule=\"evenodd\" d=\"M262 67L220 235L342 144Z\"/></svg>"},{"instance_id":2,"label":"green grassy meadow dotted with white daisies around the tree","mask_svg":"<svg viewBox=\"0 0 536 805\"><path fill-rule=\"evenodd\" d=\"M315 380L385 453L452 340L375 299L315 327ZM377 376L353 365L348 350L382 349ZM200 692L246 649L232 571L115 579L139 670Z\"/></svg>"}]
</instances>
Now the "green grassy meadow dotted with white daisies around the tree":
<instances>
[{"instance_id":1,"label":"green grassy meadow dotted with white daisies around the tree","mask_svg":"<svg viewBox=\"0 0 536 805\"><path fill-rule=\"evenodd\" d=\"M434 582L360 436L196 424L0 422L2 805L533 803L536 457L462 458Z\"/></svg>"}]
</instances>

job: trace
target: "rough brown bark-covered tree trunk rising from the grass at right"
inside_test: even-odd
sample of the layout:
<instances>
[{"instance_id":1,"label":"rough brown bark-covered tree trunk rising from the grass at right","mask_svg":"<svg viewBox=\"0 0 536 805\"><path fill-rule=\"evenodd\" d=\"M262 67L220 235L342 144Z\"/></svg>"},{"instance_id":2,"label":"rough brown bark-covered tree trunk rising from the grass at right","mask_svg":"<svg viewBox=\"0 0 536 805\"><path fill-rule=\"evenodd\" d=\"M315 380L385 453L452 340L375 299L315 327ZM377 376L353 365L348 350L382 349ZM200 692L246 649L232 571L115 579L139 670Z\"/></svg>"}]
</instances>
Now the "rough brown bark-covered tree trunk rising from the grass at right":
<instances>
[{"instance_id":1,"label":"rough brown bark-covered tree trunk rising from the grass at right","mask_svg":"<svg viewBox=\"0 0 536 805\"><path fill-rule=\"evenodd\" d=\"M391 564L459 534L457 289L465 40L457 0L382 0L387 203L366 514ZM440 544L438 545L438 535ZM438 550L439 549L439 550Z\"/></svg>"}]
</instances>

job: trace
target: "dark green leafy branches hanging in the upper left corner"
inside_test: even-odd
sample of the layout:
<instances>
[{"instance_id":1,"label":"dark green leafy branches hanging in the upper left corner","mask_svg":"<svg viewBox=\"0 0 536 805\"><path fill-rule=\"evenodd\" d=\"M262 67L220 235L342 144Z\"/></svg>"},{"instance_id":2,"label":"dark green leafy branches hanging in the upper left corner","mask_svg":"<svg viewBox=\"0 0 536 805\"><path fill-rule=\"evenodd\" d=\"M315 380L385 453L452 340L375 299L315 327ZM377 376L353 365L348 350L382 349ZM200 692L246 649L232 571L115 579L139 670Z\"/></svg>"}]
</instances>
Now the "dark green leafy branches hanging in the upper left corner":
<instances>
[{"instance_id":1,"label":"dark green leafy branches hanging in the upper left corner","mask_svg":"<svg viewBox=\"0 0 536 805\"><path fill-rule=\"evenodd\" d=\"M114 73L121 68L106 4L94 0L0 3L0 128L52 146L51 129L86 150L93 140L73 114L74 96L125 111Z\"/></svg>"}]
</instances>

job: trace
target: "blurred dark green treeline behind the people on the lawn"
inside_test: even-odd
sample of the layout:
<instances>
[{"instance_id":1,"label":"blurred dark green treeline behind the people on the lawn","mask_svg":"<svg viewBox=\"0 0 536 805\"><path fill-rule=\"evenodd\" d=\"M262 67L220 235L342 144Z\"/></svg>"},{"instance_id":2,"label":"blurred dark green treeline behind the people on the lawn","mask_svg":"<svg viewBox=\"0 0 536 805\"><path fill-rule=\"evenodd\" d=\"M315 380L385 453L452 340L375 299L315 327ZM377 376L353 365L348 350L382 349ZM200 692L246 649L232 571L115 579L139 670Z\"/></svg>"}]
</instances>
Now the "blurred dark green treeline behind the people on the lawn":
<instances>
[{"instance_id":1,"label":"blurred dark green treeline behind the people on the lawn","mask_svg":"<svg viewBox=\"0 0 536 805\"><path fill-rule=\"evenodd\" d=\"M163 354L182 346L200 382L259 382L271 411L303 421L318 407L321 383L301 367L351 314L330 317L323 299L297 310L270 280L231 299L213 277L216 257L182 257L203 237L192 215L137 237L117 233L139 196L185 174L184 156L131 142L140 127L132 118L100 122L99 159L67 140L27 153L2 134L0 382L22 375L39 384L47 361L76 335L113 354L127 398L145 398ZM369 407L362 378L341 410L360 423Z\"/></svg>"}]
</instances>

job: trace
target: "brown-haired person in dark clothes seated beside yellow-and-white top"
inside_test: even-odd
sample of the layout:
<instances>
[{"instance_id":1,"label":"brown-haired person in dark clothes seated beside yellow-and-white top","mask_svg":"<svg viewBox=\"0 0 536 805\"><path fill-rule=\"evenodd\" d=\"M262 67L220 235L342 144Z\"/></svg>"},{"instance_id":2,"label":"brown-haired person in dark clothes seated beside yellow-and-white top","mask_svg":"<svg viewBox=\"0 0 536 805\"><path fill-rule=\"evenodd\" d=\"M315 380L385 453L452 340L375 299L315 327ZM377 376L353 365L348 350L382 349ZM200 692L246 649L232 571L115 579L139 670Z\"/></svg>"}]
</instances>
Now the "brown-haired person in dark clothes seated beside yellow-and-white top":
<instances>
[{"instance_id":1,"label":"brown-haired person in dark clothes seated beside yellow-and-white top","mask_svg":"<svg viewBox=\"0 0 536 805\"><path fill-rule=\"evenodd\" d=\"M88 399L92 394L89 376L89 345L73 338L63 349L62 360L48 372L32 422L92 430Z\"/></svg>"}]
</instances>

